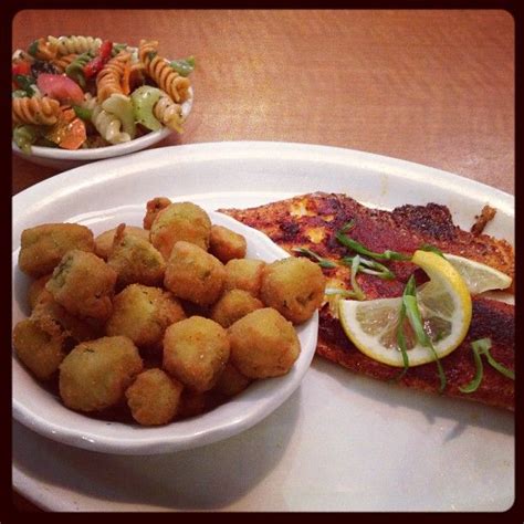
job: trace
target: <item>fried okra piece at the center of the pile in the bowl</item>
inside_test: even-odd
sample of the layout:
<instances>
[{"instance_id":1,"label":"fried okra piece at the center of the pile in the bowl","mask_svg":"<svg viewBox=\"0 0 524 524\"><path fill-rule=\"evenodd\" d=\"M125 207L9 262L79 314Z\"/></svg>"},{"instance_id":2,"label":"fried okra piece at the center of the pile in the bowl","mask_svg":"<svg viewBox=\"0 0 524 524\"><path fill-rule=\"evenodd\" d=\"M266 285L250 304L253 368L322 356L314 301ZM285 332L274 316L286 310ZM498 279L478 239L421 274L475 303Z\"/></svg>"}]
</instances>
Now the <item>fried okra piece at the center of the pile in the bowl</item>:
<instances>
[{"instance_id":1,"label":"fried okra piece at the center of the pile in the bowl","mask_svg":"<svg viewBox=\"0 0 524 524\"><path fill-rule=\"evenodd\" d=\"M180 303L160 287L130 284L113 300L107 335L125 335L139 347L160 346L166 328L186 318Z\"/></svg>"}]
</instances>

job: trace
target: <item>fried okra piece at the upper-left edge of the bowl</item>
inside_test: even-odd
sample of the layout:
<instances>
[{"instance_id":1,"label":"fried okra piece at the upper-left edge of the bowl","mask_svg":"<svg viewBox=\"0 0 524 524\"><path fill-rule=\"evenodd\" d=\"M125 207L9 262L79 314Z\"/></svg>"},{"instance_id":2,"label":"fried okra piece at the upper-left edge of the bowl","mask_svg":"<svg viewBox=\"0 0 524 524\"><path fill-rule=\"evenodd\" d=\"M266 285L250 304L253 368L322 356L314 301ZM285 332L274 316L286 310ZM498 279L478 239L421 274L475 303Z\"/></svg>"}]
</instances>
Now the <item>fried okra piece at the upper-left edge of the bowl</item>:
<instances>
[{"instance_id":1,"label":"fried okra piece at the upper-left edge of the bowl","mask_svg":"<svg viewBox=\"0 0 524 524\"><path fill-rule=\"evenodd\" d=\"M77 223L44 223L22 231L18 259L20 271L38 279L51 273L62 256L77 249L93 252L91 229Z\"/></svg>"}]
</instances>

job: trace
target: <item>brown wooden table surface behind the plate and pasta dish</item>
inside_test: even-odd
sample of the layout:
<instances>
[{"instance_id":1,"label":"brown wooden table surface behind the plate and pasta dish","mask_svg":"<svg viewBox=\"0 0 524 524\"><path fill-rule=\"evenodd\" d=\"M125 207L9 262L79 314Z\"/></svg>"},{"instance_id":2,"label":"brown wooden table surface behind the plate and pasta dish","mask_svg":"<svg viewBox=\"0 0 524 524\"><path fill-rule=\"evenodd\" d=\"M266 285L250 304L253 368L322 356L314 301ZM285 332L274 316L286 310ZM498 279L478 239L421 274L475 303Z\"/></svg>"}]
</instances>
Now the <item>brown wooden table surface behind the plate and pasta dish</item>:
<instances>
[{"instance_id":1,"label":"brown wooden table surface behind the plate and pasta dish","mask_svg":"<svg viewBox=\"0 0 524 524\"><path fill-rule=\"evenodd\" d=\"M504 11L25 10L12 27L13 50L48 34L94 34L193 54L193 111L160 147L323 144L514 193L515 39ZM13 193L56 172L13 157ZM20 496L15 506L34 507Z\"/></svg>"}]
</instances>

